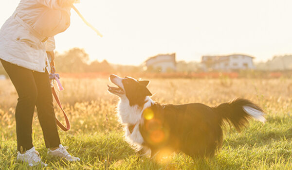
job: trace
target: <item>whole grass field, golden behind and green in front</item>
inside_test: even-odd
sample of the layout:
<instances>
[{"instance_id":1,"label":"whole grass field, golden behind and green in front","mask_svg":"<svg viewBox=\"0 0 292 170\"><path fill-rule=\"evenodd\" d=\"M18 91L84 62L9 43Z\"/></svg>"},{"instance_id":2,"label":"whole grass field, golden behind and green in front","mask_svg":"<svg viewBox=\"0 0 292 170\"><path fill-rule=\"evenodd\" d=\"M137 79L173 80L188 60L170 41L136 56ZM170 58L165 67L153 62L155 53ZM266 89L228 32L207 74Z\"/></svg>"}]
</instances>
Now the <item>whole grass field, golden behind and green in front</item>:
<instances>
[{"instance_id":1,"label":"whole grass field, golden behind and green in front","mask_svg":"<svg viewBox=\"0 0 292 170\"><path fill-rule=\"evenodd\" d=\"M72 129L59 131L61 142L81 162L68 164L49 157L39 122L33 122L34 145L48 170L292 170L292 80L290 79L152 79L153 100L211 106L243 97L259 104L267 122L251 120L241 133L226 126L223 147L213 158L192 160L173 153L160 162L141 157L123 140L115 117L118 98L107 92L108 79L62 80L60 98ZM15 105L17 94L9 80L0 81L0 170L27 169L16 162ZM60 110L56 114L62 119ZM36 116L37 114L35 114ZM35 169L42 169L35 167Z\"/></svg>"}]
</instances>

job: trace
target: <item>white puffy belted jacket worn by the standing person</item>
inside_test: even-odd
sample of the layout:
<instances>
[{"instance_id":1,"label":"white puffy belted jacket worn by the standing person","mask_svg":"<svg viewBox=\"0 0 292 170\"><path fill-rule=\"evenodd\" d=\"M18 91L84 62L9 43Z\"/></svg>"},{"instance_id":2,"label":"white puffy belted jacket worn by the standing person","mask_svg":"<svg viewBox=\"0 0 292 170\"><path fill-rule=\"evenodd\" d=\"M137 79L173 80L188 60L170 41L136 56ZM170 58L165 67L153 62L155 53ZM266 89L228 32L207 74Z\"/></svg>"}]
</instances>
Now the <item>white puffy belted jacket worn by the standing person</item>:
<instances>
[{"instance_id":1,"label":"white puffy belted jacket worn by the standing person","mask_svg":"<svg viewBox=\"0 0 292 170\"><path fill-rule=\"evenodd\" d=\"M70 26L73 1L20 0L0 29L0 59L45 72L49 65L46 51L54 51L54 35Z\"/></svg>"}]
</instances>

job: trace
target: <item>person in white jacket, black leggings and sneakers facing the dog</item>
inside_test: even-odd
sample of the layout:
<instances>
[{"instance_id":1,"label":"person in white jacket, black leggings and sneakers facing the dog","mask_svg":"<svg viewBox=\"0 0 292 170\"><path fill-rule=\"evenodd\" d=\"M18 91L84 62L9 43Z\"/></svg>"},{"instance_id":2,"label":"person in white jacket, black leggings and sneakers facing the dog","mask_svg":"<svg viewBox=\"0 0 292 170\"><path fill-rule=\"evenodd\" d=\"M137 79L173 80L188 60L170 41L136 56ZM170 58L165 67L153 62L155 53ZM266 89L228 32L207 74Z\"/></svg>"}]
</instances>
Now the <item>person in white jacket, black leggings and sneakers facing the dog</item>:
<instances>
[{"instance_id":1,"label":"person in white jacket, black leggings and sneakers facing the dog","mask_svg":"<svg viewBox=\"0 0 292 170\"><path fill-rule=\"evenodd\" d=\"M32 141L35 106L48 154L79 161L60 144L56 127L47 53L54 54L54 35L70 25L76 0L20 0L0 29L0 61L18 93L16 106L17 159L42 164Z\"/></svg>"}]
</instances>

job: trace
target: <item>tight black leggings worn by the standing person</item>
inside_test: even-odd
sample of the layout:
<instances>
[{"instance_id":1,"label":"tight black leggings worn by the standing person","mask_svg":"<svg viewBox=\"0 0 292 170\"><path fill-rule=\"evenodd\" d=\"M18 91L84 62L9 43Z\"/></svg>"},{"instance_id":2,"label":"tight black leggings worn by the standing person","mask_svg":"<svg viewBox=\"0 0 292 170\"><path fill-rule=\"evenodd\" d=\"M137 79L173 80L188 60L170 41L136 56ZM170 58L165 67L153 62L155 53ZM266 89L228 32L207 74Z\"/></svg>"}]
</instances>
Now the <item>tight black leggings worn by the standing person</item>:
<instances>
[{"instance_id":1,"label":"tight black leggings worn by the standing person","mask_svg":"<svg viewBox=\"0 0 292 170\"><path fill-rule=\"evenodd\" d=\"M17 149L27 151L33 147L32 122L35 106L47 148L60 144L53 97L48 72L37 72L1 60L18 93L15 110ZM20 149L22 147L22 149Z\"/></svg>"}]
</instances>

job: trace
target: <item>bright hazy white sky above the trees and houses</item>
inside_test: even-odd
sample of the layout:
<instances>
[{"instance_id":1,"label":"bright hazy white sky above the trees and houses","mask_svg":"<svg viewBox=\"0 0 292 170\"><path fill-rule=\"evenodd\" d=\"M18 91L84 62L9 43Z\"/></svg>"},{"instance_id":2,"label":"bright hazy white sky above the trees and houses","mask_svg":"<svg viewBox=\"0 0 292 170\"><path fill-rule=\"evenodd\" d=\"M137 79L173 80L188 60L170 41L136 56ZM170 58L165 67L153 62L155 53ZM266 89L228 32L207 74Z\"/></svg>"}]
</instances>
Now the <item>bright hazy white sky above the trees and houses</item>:
<instances>
[{"instance_id":1,"label":"bright hazy white sky above the trees and houses","mask_svg":"<svg viewBox=\"0 0 292 170\"><path fill-rule=\"evenodd\" d=\"M1 0L0 25L20 0ZM256 62L292 53L292 0L81 0L71 26L57 34L56 51L83 48L91 61L140 65L176 53L177 60L244 53Z\"/></svg>"}]
</instances>

